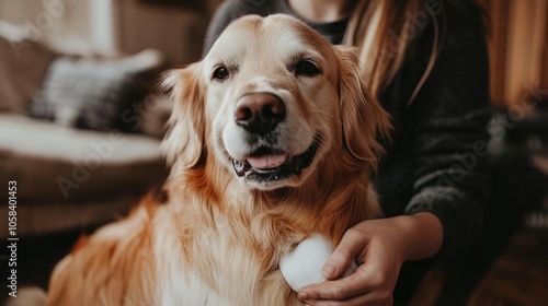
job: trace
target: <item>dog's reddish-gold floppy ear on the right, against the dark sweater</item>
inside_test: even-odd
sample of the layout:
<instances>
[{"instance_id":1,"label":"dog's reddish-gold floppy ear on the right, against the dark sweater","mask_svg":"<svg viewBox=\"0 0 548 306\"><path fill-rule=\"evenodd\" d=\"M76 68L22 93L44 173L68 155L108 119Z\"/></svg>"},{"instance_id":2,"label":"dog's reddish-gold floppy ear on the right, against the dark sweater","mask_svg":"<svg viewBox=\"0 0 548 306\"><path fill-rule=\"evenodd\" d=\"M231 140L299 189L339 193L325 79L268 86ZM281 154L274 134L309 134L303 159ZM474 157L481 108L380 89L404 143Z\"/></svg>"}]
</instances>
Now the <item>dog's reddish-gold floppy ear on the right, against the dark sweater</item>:
<instances>
[{"instance_id":1,"label":"dog's reddish-gold floppy ear on the right, against the dark sweater","mask_svg":"<svg viewBox=\"0 0 548 306\"><path fill-rule=\"evenodd\" d=\"M336 49L344 145L353 157L376 167L376 161L384 153L377 138L388 138L390 116L366 89L356 49L350 46L336 46Z\"/></svg>"}]
</instances>

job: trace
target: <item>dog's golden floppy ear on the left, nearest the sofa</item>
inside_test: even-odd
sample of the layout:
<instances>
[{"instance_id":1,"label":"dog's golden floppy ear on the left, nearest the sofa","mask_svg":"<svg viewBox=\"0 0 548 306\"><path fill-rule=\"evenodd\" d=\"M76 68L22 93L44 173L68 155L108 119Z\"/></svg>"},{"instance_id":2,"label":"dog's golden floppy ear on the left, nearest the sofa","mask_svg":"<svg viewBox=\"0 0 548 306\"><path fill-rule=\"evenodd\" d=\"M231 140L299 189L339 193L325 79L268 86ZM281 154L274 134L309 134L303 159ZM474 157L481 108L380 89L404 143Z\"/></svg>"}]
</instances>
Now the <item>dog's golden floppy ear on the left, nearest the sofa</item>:
<instances>
[{"instance_id":1,"label":"dog's golden floppy ear on the left, nearest the sofa","mask_svg":"<svg viewBox=\"0 0 548 306\"><path fill-rule=\"evenodd\" d=\"M199 75L197 62L163 76L162 87L171 91L174 106L162 151L168 164L179 169L195 166L205 154L205 96Z\"/></svg>"}]
</instances>

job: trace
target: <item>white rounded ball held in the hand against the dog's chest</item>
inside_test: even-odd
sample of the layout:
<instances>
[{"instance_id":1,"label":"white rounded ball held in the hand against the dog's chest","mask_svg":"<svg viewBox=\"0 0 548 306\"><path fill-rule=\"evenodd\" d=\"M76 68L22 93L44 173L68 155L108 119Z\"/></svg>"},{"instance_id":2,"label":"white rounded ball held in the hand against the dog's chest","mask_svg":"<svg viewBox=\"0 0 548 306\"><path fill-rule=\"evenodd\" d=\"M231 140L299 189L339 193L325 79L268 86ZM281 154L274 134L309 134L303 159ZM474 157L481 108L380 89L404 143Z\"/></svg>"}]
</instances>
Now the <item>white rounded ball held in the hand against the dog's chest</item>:
<instances>
[{"instance_id":1,"label":"white rounded ball held in the hand against the dog's chest","mask_svg":"<svg viewBox=\"0 0 548 306\"><path fill-rule=\"evenodd\" d=\"M331 242L321 235L312 235L298 244L295 249L282 256L279 270L295 292L305 286L324 282L326 278L321 274L321 269L333 250ZM356 264L352 263L343 276L347 276L356 270Z\"/></svg>"}]
</instances>

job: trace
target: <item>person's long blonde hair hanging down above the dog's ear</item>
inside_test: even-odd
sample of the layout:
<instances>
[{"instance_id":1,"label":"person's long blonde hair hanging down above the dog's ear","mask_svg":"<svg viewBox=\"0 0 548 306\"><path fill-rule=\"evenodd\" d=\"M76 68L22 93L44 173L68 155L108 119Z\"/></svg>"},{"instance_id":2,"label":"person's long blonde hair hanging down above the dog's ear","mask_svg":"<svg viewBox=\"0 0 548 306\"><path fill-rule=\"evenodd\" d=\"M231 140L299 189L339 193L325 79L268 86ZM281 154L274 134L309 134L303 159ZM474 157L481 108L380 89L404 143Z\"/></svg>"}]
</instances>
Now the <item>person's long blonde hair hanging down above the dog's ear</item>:
<instances>
[{"instance_id":1,"label":"person's long blonde hair hanging down above the dog's ear","mask_svg":"<svg viewBox=\"0 0 548 306\"><path fill-rule=\"evenodd\" d=\"M438 0L439 5L443 5L442 1ZM431 56L408 103L414 99L432 71L441 47L438 15L443 13L441 7L426 7L425 0L364 0L356 4L343 44L358 47L363 78L375 96L400 70L407 50L419 32L432 23Z\"/></svg>"}]
</instances>

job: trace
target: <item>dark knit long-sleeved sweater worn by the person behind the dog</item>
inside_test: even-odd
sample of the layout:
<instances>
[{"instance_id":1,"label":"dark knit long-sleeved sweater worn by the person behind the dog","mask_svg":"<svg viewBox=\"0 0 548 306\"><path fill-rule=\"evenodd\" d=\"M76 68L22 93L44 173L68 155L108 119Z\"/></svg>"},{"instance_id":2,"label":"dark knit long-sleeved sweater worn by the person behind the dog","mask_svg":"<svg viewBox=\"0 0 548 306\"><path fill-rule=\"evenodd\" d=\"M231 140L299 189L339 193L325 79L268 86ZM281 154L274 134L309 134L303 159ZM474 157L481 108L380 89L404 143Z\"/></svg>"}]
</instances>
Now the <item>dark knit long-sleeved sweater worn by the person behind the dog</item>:
<instances>
[{"instance_id":1,"label":"dark knit long-sleeved sweater worn by the person behind the dog","mask_svg":"<svg viewBox=\"0 0 548 306\"><path fill-rule=\"evenodd\" d=\"M391 115L395 131L375 178L386 216L426 211L439 217L444 243L438 257L445 260L481 231L489 190L482 169L489 120L487 47L480 16L453 2L459 1L439 0L441 11L430 16L443 25L442 48L413 102L408 104L432 50L432 22L418 24L402 68L378 97ZM237 17L273 13L299 17L285 0L225 1L208 28L205 51ZM339 44L347 19L305 22Z\"/></svg>"}]
</instances>

